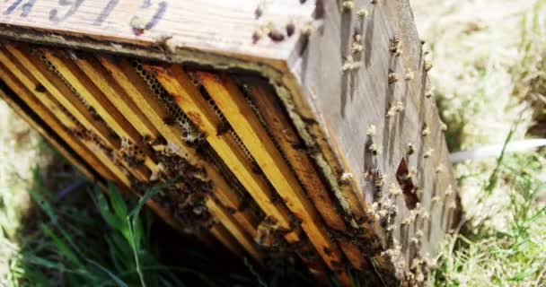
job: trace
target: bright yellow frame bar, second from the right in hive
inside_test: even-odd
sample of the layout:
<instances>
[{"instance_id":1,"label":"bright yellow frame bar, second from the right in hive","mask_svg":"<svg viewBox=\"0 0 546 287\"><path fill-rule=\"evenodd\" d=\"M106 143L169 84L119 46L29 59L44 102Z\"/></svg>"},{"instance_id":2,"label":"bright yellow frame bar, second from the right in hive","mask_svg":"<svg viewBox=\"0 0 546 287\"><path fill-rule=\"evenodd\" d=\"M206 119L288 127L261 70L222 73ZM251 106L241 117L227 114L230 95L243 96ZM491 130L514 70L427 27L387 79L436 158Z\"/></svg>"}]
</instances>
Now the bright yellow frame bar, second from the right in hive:
<instances>
[{"instance_id":1,"label":"bright yellow frame bar, second from the right in hive","mask_svg":"<svg viewBox=\"0 0 546 287\"><path fill-rule=\"evenodd\" d=\"M302 228L313 246L332 270L338 270L341 261L339 249L324 230L313 204L304 195L295 176L286 166L275 145L269 139L260 121L244 100L242 92L226 74L197 72L199 80L210 97L242 138L254 159L260 165L279 196L283 198L291 212L302 221ZM327 252L330 250L331 252Z\"/></svg>"}]
</instances>

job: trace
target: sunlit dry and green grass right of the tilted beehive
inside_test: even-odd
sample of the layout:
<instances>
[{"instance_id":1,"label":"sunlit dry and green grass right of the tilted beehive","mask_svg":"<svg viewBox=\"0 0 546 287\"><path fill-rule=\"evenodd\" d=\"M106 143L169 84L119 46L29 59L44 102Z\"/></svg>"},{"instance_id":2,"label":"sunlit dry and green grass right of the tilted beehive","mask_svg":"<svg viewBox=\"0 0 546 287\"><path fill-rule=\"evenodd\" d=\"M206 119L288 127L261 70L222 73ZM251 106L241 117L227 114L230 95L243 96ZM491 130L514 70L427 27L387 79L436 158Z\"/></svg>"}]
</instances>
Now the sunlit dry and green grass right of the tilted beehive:
<instances>
[{"instance_id":1,"label":"sunlit dry and green grass right of the tilted beehive","mask_svg":"<svg viewBox=\"0 0 546 287\"><path fill-rule=\"evenodd\" d=\"M411 1L451 151L544 136L546 1ZM543 119L542 119L543 121ZM531 131L531 132L530 132ZM544 151L454 167L466 222L435 286L546 285Z\"/></svg>"}]
</instances>

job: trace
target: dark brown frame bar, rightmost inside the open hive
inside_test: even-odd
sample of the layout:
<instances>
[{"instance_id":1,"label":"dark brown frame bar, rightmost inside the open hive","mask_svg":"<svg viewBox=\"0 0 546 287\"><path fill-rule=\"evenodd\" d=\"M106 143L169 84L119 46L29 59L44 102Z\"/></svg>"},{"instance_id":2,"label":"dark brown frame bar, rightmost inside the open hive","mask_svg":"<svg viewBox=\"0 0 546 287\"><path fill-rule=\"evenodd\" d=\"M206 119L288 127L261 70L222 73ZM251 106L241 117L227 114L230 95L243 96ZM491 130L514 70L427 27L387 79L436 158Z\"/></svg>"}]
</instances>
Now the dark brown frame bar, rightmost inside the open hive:
<instances>
[{"instance_id":1,"label":"dark brown frame bar, rightmost inside the open hive","mask_svg":"<svg viewBox=\"0 0 546 287\"><path fill-rule=\"evenodd\" d=\"M260 115L269 127L269 131L286 155L287 161L295 170L295 174L300 179L317 211L321 213L326 225L334 230L347 232L348 228L330 199L327 188L322 184L320 176L314 169L313 162L306 152L295 148L295 146L302 146L303 143L295 134L291 123L284 117L283 109L274 99L275 94L267 90L268 83L248 78L244 80L244 85L250 94L252 103L260 110ZM365 255L347 240L338 239L338 242L351 264L357 269L364 269L367 265Z\"/></svg>"}]
</instances>

